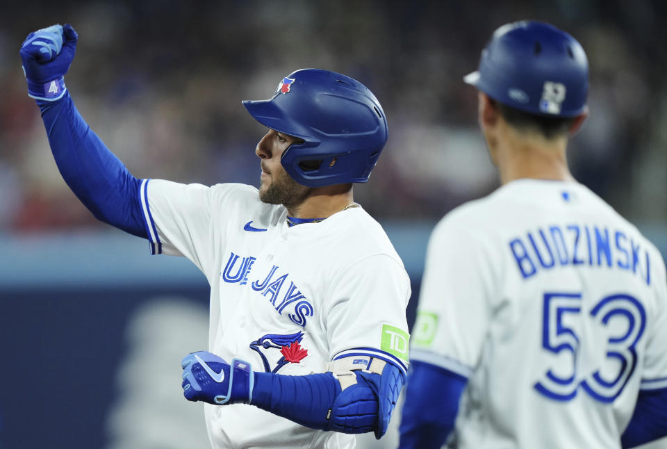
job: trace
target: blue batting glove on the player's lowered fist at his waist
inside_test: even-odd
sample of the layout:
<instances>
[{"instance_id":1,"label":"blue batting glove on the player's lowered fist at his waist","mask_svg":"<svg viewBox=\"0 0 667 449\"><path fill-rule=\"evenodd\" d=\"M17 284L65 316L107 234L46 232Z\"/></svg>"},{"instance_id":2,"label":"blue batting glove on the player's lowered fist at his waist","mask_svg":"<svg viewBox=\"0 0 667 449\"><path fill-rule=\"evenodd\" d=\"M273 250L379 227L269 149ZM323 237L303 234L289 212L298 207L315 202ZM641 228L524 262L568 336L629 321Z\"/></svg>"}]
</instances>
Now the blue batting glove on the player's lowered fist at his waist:
<instances>
[{"instance_id":1,"label":"blue batting glove on the player's lowered fist at his waist","mask_svg":"<svg viewBox=\"0 0 667 449\"><path fill-rule=\"evenodd\" d=\"M183 395L187 400L203 400L223 405L252 400L254 375L250 364L233 359L231 365L208 351L192 352L181 361Z\"/></svg>"}]
</instances>

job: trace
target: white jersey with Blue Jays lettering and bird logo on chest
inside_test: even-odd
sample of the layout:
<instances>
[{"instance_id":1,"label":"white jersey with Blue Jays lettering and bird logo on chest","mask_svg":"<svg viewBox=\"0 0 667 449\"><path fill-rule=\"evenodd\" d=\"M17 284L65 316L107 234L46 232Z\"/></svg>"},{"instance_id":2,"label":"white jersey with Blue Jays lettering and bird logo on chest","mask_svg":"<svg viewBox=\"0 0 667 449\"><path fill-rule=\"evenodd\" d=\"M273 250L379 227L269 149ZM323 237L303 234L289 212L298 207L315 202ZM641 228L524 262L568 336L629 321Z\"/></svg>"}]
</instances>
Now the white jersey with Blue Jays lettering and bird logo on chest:
<instances>
[{"instance_id":1,"label":"white jersey with Blue Jays lettering and bird logo on chest","mask_svg":"<svg viewBox=\"0 0 667 449\"><path fill-rule=\"evenodd\" d=\"M405 370L409 277L361 207L288 227L252 186L145 180L141 197L153 252L186 256L211 284L209 351L281 375L324 373L351 354ZM354 447L353 435L251 405L205 410L214 448Z\"/></svg>"}]
</instances>

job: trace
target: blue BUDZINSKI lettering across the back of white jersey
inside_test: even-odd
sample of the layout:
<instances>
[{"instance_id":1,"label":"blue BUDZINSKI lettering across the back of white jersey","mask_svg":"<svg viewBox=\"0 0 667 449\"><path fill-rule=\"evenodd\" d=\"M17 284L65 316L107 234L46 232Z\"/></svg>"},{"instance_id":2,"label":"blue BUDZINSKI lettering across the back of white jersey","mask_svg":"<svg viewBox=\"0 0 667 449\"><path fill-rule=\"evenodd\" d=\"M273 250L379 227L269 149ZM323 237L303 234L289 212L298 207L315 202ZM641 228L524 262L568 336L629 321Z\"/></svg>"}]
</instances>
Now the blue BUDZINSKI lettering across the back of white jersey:
<instances>
[{"instance_id":1,"label":"blue BUDZINSKI lettering across the back of white jersey","mask_svg":"<svg viewBox=\"0 0 667 449\"><path fill-rule=\"evenodd\" d=\"M554 224L529 229L508 243L522 277L562 266L632 271L651 284L650 256L623 231L595 224Z\"/></svg>"}]
</instances>

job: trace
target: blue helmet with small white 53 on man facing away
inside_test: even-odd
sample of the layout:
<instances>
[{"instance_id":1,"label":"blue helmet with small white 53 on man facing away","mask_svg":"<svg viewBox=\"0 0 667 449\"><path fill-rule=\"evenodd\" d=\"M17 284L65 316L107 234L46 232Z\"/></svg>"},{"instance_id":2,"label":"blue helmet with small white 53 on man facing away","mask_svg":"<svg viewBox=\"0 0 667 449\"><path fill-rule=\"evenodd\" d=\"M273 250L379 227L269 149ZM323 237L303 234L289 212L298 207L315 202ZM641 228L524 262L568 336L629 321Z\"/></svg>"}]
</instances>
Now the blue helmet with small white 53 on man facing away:
<instances>
[{"instance_id":1,"label":"blue helmet with small white 53 on man facing away","mask_svg":"<svg viewBox=\"0 0 667 449\"><path fill-rule=\"evenodd\" d=\"M527 113L575 117L586 111L588 59L565 31L543 22L514 22L493 33L479 70L463 81Z\"/></svg>"}]
</instances>

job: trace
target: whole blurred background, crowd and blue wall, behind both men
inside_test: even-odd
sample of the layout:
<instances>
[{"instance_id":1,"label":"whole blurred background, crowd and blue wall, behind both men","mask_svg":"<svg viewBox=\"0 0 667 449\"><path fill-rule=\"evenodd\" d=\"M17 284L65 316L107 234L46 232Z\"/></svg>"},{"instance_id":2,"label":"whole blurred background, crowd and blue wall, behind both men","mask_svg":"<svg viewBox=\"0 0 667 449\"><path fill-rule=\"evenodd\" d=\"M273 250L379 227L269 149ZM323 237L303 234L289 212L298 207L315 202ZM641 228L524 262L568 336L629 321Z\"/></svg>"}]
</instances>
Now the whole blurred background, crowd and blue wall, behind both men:
<instances>
[{"instance_id":1,"label":"whole blurred background, crowd and blue wall, behind both men","mask_svg":"<svg viewBox=\"0 0 667 449\"><path fill-rule=\"evenodd\" d=\"M389 140L355 199L404 260L411 324L434 222L498 186L477 95L462 77L495 28L518 19L582 42L590 117L570 142L570 165L666 254L665 1L1 2L0 354L17 370L0 381L16 385L19 373L21 388L0 391L0 449L207 447L178 363L206 346L206 279L184 259L151 258L67 188L26 95L19 48L28 33L74 26L67 88L142 178L257 186L254 148L265 130L242 100L271 97L303 67L367 85ZM395 447L397 422L359 448Z\"/></svg>"}]
</instances>

